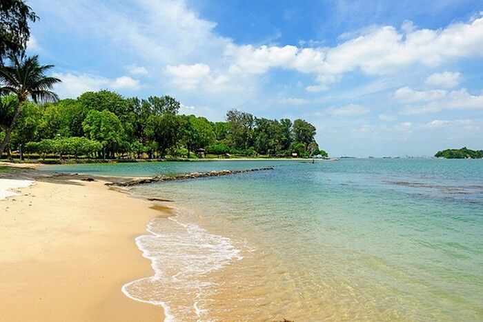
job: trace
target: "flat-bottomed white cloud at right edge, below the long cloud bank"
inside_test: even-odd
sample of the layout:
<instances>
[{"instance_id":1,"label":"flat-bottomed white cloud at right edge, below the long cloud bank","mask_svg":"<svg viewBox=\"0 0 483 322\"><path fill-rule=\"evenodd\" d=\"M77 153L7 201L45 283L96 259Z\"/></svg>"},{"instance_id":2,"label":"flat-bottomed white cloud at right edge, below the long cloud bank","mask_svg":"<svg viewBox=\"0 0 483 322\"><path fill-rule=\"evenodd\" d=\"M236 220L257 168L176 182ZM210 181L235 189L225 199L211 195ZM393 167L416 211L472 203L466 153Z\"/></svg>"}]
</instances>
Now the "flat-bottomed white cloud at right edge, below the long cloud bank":
<instances>
[{"instance_id":1,"label":"flat-bottomed white cloud at right edge, below the long cloud bank","mask_svg":"<svg viewBox=\"0 0 483 322\"><path fill-rule=\"evenodd\" d=\"M424 94L421 96L425 97ZM469 94L466 88L452 90L441 97L436 95L432 100L425 100L429 102L424 105L406 106L402 111L403 114L426 114L440 112L441 110L483 110L483 95ZM423 101L423 99L420 101Z\"/></svg>"}]
</instances>

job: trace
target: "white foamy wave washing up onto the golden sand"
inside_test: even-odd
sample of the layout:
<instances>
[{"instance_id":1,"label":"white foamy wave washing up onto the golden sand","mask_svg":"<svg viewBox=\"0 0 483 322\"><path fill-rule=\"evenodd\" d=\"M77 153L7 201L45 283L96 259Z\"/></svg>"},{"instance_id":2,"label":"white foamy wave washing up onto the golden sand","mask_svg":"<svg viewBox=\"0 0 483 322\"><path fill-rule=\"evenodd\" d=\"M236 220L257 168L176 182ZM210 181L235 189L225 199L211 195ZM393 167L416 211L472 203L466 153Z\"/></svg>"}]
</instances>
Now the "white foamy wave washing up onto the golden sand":
<instances>
[{"instance_id":1,"label":"white foamy wave washing up onto the golden sand","mask_svg":"<svg viewBox=\"0 0 483 322\"><path fill-rule=\"evenodd\" d=\"M242 259L240 250L230 239L179 217L152 219L146 230L150 234L135 241L155 274L126 283L122 291L130 299L161 305L165 321L206 320L208 308L200 303L214 286L210 273Z\"/></svg>"}]
</instances>

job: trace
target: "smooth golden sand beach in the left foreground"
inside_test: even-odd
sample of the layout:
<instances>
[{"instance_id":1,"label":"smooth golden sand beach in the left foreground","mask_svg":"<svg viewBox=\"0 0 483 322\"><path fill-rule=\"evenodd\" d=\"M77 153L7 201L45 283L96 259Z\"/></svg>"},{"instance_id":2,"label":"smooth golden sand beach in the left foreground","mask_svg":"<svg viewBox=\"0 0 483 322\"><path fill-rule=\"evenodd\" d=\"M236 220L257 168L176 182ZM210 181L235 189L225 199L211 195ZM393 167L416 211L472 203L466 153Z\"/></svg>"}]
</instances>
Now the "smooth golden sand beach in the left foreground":
<instances>
[{"instance_id":1,"label":"smooth golden sand beach in the left foreground","mask_svg":"<svg viewBox=\"0 0 483 322\"><path fill-rule=\"evenodd\" d=\"M163 321L124 283L152 275L135 237L161 214L104 185L38 178L0 201L4 321Z\"/></svg>"}]
</instances>

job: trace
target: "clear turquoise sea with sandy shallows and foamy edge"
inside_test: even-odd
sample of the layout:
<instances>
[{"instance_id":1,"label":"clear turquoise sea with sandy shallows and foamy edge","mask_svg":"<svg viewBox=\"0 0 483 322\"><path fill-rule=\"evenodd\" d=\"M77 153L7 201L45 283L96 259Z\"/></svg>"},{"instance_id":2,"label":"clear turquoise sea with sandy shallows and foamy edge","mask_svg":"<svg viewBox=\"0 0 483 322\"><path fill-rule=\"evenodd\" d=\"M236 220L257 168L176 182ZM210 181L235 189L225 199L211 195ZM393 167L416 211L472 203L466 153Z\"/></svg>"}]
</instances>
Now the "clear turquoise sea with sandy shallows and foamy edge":
<instances>
[{"instance_id":1,"label":"clear turquoise sea with sandy shallows and foamy edge","mask_svg":"<svg viewBox=\"0 0 483 322\"><path fill-rule=\"evenodd\" d=\"M125 285L125 292L162 302L179 321L483 319L482 160L66 171L151 176L266 165L275 170L132 189L174 200L177 216L153 219L151 233L137 239L156 274Z\"/></svg>"}]
</instances>

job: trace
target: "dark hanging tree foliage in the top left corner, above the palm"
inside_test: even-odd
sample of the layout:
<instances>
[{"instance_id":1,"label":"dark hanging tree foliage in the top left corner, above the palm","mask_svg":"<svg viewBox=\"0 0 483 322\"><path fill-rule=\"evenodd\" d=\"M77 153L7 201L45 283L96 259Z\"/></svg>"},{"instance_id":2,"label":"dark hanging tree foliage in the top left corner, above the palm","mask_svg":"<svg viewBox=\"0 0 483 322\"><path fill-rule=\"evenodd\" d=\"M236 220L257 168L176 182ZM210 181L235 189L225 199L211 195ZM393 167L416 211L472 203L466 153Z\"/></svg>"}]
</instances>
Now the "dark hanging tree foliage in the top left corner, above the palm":
<instances>
[{"instance_id":1,"label":"dark hanging tree foliage in the top left corner, above the palm","mask_svg":"<svg viewBox=\"0 0 483 322\"><path fill-rule=\"evenodd\" d=\"M28 21L39 17L22 0L0 1L0 66L11 54L22 55L30 38Z\"/></svg>"}]
</instances>

